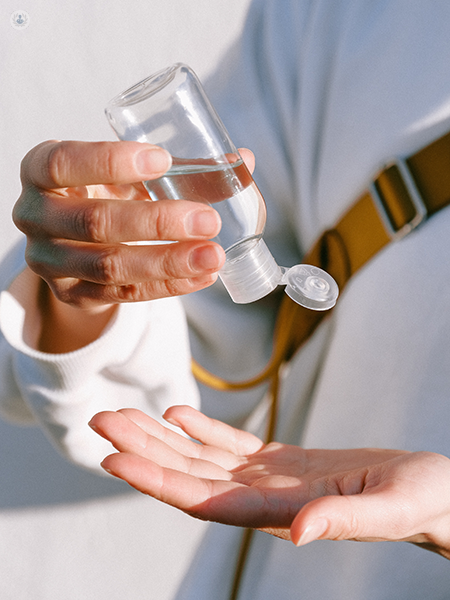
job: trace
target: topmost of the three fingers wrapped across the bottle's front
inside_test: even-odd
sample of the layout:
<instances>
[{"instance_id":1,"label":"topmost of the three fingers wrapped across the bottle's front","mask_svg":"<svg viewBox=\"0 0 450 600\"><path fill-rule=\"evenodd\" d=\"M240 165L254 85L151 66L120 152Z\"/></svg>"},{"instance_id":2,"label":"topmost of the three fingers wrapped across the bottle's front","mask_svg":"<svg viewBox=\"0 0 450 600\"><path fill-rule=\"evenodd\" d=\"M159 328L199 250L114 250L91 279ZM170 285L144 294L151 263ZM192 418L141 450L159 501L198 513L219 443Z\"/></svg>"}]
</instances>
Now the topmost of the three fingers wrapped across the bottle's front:
<instances>
[{"instance_id":1,"label":"topmost of the three fingers wrapped across the bottle's front","mask_svg":"<svg viewBox=\"0 0 450 600\"><path fill-rule=\"evenodd\" d=\"M48 141L24 157L21 176L25 185L45 189L134 183L160 177L171 160L162 148L140 142Z\"/></svg>"}]
</instances>

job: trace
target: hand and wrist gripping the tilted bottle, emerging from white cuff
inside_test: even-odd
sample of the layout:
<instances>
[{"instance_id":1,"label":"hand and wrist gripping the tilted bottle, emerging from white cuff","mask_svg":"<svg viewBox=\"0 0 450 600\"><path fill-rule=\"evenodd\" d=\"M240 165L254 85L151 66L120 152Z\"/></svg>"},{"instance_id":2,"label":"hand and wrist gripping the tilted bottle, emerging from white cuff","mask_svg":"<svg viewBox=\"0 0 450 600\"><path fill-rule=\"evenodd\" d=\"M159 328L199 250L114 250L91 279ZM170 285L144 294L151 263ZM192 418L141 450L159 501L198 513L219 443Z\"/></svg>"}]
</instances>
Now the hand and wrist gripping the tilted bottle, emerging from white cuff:
<instances>
[{"instance_id":1,"label":"hand and wrist gripping the tilted bottle, emerging from white cuff","mask_svg":"<svg viewBox=\"0 0 450 600\"><path fill-rule=\"evenodd\" d=\"M242 156L253 170L253 154ZM217 212L150 202L142 185L170 165L166 151L138 142L47 141L25 156L13 219L43 282L40 350L92 342L121 302L188 294L217 279L225 261L210 241L221 227ZM145 240L177 243L126 244Z\"/></svg>"}]
</instances>

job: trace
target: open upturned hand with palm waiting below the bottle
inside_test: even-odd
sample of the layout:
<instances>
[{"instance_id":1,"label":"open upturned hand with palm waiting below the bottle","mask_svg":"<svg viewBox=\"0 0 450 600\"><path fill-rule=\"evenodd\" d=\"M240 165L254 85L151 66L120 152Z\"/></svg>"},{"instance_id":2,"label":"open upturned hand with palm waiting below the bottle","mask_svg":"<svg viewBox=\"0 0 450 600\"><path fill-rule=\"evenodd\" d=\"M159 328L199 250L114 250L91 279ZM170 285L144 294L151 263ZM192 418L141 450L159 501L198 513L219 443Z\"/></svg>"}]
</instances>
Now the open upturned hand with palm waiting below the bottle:
<instances>
[{"instance_id":1,"label":"open upturned hand with palm waiting below the bottle","mask_svg":"<svg viewBox=\"0 0 450 600\"><path fill-rule=\"evenodd\" d=\"M450 460L400 450L264 445L189 407L164 415L201 444L134 409L91 427L118 454L102 466L203 520L313 539L410 541L450 558Z\"/></svg>"}]
</instances>

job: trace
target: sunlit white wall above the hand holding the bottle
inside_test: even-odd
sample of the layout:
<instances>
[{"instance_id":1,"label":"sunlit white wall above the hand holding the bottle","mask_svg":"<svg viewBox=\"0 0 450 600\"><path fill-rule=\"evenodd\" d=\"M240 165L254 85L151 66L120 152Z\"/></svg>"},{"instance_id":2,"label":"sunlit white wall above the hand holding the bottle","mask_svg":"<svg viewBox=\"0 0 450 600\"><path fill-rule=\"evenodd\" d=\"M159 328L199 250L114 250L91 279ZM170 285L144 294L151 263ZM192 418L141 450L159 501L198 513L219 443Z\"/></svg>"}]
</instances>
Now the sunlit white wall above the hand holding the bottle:
<instances>
[{"instance_id":1,"label":"sunlit white wall above the hand holding the bottle","mask_svg":"<svg viewBox=\"0 0 450 600\"><path fill-rule=\"evenodd\" d=\"M2 0L0 256L17 231L23 155L46 139L114 139L117 93L173 62L201 78L239 34L249 0ZM30 19L15 29L11 14Z\"/></svg>"}]
</instances>

